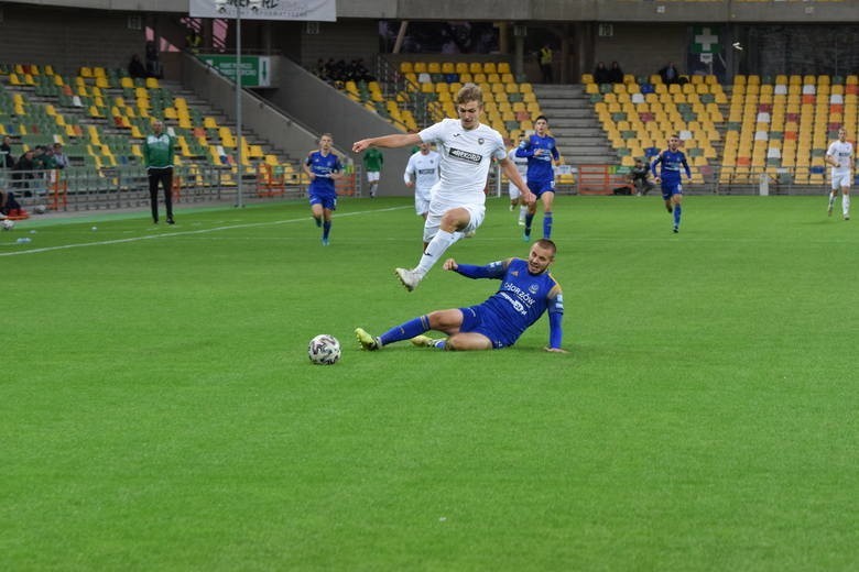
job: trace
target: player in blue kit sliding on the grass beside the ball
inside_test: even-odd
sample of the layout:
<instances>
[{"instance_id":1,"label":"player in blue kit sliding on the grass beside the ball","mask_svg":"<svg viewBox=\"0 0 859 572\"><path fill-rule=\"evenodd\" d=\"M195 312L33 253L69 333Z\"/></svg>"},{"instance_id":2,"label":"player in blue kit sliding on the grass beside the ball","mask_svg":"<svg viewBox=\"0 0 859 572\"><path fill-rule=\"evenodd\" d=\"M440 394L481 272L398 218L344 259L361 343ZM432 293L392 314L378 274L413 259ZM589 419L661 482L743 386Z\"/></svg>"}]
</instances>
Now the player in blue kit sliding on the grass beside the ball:
<instances>
[{"instance_id":1,"label":"player in blue kit sliding on the grass beside the ball","mask_svg":"<svg viewBox=\"0 0 859 572\"><path fill-rule=\"evenodd\" d=\"M369 351L403 340L442 350L500 349L513 345L522 332L547 311L550 334L545 350L566 353L561 348L564 297L561 286L548 272L555 252L555 243L543 239L531 246L528 260L507 258L486 266L472 266L448 258L444 270L468 278L499 279L501 286L482 304L436 310L395 326L378 338L358 328L355 330L358 342ZM430 330L444 332L448 338L434 340L424 336Z\"/></svg>"}]
</instances>

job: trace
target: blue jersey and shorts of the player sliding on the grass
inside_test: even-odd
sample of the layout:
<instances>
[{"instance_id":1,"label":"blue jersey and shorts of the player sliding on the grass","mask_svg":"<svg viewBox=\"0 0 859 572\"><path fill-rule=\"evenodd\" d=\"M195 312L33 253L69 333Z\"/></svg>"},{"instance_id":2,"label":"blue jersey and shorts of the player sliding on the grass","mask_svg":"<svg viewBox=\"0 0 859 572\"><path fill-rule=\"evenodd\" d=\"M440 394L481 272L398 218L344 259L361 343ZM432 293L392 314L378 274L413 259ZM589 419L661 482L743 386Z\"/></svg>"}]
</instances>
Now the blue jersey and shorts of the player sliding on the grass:
<instances>
[{"instance_id":1,"label":"blue jersey and shorts of the player sliding on the grass","mask_svg":"<svg viewBox=\"0 0 859 572\"><path fill-rule=\"evenodd\" d=\"M548 272L533 275L528 261L511 258L490 264L490 276L501 286L485 302L463 308L465 321L460 331L477 331L492 341L494 348L512 345L547 309L564 312L561 286Z\"/></svg>"}]
</instances>

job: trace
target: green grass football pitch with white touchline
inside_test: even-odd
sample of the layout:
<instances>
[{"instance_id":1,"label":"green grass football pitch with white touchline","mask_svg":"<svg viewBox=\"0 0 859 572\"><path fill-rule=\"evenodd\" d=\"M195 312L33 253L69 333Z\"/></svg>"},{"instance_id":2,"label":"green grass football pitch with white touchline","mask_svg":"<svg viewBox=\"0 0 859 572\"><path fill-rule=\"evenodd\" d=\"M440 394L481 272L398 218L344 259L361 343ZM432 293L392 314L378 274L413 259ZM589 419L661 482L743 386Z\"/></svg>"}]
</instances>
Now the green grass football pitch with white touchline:
<instances>
[{"instance_id":1,"label":"green grass football pitch with white touchline","mask_svg":"<svg viewBox=\"0 0 859 572\"><path fill-rule=\"evenodd\" d=\"M677 235L659 197L559 197L568 355L545 318L361 352L498 284L406 293L410 199L342 200L328 248L304 201L176 217L0 233L0 569L859 568L859 222L823 195L688 196ZM489 199L448 255L526 252Z\"/></svg>"}]
</instances>

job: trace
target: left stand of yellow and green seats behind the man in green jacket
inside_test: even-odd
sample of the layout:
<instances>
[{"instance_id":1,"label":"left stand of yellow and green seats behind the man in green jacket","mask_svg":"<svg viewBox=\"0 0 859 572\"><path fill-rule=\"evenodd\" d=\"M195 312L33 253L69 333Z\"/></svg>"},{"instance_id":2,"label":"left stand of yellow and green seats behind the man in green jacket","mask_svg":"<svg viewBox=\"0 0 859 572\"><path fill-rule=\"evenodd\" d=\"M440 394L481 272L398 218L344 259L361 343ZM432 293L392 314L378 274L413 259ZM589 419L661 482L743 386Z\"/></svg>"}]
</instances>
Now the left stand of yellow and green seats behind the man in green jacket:
<instances>
[{"instance_id":1,"label":"left stand of yellow and green seats behind the man in green jacket","mask_svg":"<svg viewBox=\"0 0 859 572\"><path fill-rule=\"evenodd\" d=\"M191 103L177 86L100 66L84 66L66 77L51 65L0 66L0 134L10 135L22 152L53 143L65 147L72 168L56 175L54 191L68 190L63 178L76 167L113 183L111 169L117 167L137 167L142 177L142 143L153 118L162 118L176 138L175 194L183 186L210 186L214 179L236 185L235 130L219 123L205 102ZM303 174L290 161L244 135L240 161L246 175L255 177L260 196L283 194L287 185L302 183ZM65 206L65 197L54 196L50 206Z\"/></svg>"}]
</instances>

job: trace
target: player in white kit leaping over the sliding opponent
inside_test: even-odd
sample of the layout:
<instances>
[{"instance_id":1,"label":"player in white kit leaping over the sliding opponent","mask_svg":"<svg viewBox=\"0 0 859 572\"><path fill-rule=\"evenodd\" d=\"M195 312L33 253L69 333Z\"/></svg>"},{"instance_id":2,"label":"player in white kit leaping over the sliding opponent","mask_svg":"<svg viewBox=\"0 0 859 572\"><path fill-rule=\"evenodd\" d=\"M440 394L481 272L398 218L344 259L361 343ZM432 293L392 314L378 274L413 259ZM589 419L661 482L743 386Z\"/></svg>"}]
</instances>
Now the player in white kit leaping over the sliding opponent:
<instances>
[{"instance_id":1,"label":"player in white kit leaping over the sliding opponent","mask_svg":"<svg viewBox=\"0 0 859 572\"><path fill-rule=\"evenodd\" d=\"M433 187L430 211L424 222L426 249L412 270L396 268L405 289L412 292L444 253L465 234L475 231L486 215L486 187L492 158L504 175L522 191L525 204L534 195L507 156L501 134L480 123L483 94L475 84L466 84L456 95L459 119L443 119L420 133L398 133L362 139L352 145L355 153L376 147L405 147L435 143L441 155L441 178Z\"/></svg>"}]
</instances>

